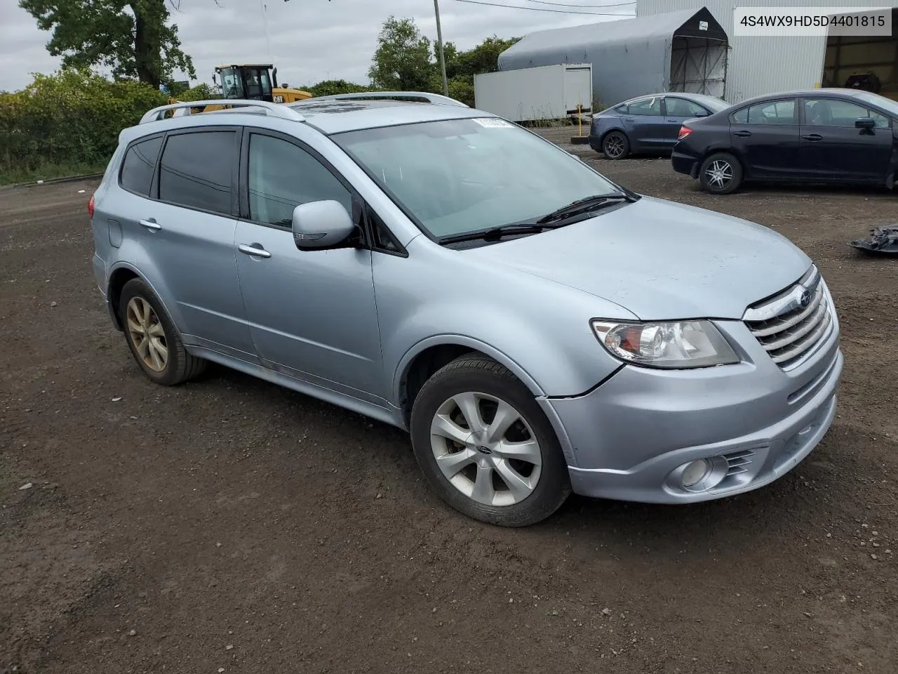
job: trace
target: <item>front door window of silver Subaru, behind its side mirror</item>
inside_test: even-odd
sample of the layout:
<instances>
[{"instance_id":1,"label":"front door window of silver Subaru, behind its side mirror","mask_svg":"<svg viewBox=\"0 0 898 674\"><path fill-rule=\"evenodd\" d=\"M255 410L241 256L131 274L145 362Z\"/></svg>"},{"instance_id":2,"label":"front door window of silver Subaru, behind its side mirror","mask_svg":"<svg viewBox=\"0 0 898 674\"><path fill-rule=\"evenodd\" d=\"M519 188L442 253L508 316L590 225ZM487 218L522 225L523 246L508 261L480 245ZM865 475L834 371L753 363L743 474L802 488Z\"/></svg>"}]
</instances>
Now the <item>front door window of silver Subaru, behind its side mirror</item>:
<instances>
[{"instance_id":1,"label":"front door window of silver Subaru, behind its side mirror","mask_svg":"<svg viewBox=\"0 0 898 674\"><path fill-rule=\"evenodd\" d=\"M290 226L293 209L336 200L352 213L352 195L313 155L280 138L250 137L250 217Z\"/></svg>"}]
</instances>

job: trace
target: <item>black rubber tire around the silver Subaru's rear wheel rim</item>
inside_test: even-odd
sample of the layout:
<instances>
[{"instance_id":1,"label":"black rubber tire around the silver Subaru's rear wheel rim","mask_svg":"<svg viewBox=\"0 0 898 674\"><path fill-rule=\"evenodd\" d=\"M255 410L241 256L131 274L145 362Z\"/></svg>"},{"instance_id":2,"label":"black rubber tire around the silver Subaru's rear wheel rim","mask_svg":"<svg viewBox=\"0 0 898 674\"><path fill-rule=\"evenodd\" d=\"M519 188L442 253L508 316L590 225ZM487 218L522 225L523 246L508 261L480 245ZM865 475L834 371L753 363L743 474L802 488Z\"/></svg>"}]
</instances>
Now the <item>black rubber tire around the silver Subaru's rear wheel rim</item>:
<instances>
[{"instance_id":1,"label":"black rubber tire around the silver Subaru's rear wheel rim","mask_svg":"<svg viewBox=\"0 0 898 674\"><path fill-rule=\"evenodd\" d=\"M156 370L145 361L145 358L138 352L135 343L135 335L129 328L128 323L128 303L132 299L136 299L136 305L141 302L149 305L156 320L149 323L158 325L163 332L163 345L167 351L167 359L162 369ZM144 371L144 374L151 381L163 386L177 386L194 377L198 377L208 365L206 359L191 356L184 349L184 342L180 341L180 335L172 322L172 317L165 311L162 302L155 296L155 293L143 279L131 279L121 289L121 297L119 298L119 317L122 327L125 331L125 341L128 342L128 349L136 363Z\"/></svg>"}]
</instances>

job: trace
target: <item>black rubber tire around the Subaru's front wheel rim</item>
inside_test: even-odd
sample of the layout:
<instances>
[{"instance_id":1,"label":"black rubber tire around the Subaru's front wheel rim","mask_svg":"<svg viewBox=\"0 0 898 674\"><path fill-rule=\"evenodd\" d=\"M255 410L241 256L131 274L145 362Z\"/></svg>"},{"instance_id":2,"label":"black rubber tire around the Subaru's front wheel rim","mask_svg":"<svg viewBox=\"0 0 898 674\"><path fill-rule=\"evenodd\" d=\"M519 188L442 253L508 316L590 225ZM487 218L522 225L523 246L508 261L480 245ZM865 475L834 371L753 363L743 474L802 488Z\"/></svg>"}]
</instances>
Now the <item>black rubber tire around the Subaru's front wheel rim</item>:
<instances>
[{"instance_id":1,"label":"black rubber tire around the Subaru's front wheel rim","mask_svg":"<svg viewBox=\"0 0 898 674\"><path fill-rule=\"evenodd\" d=\"M505 505L475 501L471 496L462 493L459 488L456 488L437 465L435 450L431 444L431 423L441 406L451 404L450 399L453 396L465 393L479 393L495 397L511 405L514 411L520 415L520 420L523 420L523 422L520 420L515 421L509 427L509 430L503 433L501 436L503 439L508 439L507 436L514 433L524 432L537 441L541 460L540 472L536 476L533 491L520 501ZM487 416L489 405L491 404L495 403L489 400L480 403L479 409L487 412L484 413L483 421L488 421ZM493 413L495 414L495 411ZM529 429L527 428L528 426ZM433 377L427 380L424 386L421 387L418 397L412 406L410 433L412 448L414 449L415 457L418 459L418 466L421 467L422 472L426 475L427 481L444 501L455 510L472 519L478 519L500 527L526 527L548 518L567 500L571 491L567 462L561 452L555 431L540 409L540 405L537 404L533 394L517 377L504 366L486 356L480 354L461 356L454 359L444 368L439 369ZM473 438L473 434L471 438ZM449 441L446 440L446 442L448 443ZM455 447L462 448L464 446L461 443L457 443ZM469 444L461 451L468 452L472 457L476 457L478 461L486 461L486 457L475 451L474 448L476 447L478 447L477 440L469 439ZM480 448L482 450L482 445L480 445ZM497 456L493 458L498 458L499 462L504 462L506 466L502 466L503 468L507 469L508 466L511 466L515 469L515 474L523 474L519 472L519 466L524 466L525 468L528 465L525 461L518 461L514 458L501 458L500 454L497 451ZM464 473L464 471L470 471L470 469L473 469L474 478L468 478L467 474ZM473 486L479 470L475 463L466 464L464 469L458 471L456 478L462 475L462 480L469 480L471 486ZM507 483L498 470L488 469L487 473L489 473L489 483L494 489L496 486L495 475L498 475L497 479L506 485L504 492L502 490L495 491L496 494L501 494L497 498L514 498L514 493L507 488ZM532 478L533 472L527 475L525 479L530 480Z\"/></svg>"}]
</instances>

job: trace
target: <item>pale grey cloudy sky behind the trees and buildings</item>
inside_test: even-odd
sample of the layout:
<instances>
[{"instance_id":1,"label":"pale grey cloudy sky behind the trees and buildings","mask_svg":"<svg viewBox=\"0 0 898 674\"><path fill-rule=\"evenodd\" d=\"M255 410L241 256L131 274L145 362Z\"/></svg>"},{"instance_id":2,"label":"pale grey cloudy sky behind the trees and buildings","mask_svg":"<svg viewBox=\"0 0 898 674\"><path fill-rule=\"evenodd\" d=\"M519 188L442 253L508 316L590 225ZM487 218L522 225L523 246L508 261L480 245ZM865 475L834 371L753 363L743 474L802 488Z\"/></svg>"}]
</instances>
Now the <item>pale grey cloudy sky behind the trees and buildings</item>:
<instances>
[{"instance_id":1,"label":"pale grey cloudy sky behind the trees and buildings","mask_svg":"<svg viewBox=\"0 0 898 674\"><path fill-rule=\"evenodd\" d=\"M625 0L480 2L532 10L440 0L444 40L470 49L493 34L503 38L524 35L543 28L613 19L600 13L620 16L636 10L635 2ZM377 34L391 13L414 18L421 31L436 39L431 0L218 0L218 4L221 6L214 0L180 0L180 12L172 11L183 48L193 57L201 82L211 81L217 65L261 59L277 66L281 83L308 85L346 79L365 84ZM554 11L533 11L536 9ZM39 31L31 14L16 0L0 0L0 91L21 89L31 81L30 73L49 73L58 67L57 58L49 56L44 46L48 39L49 33Z\"/></svg>"}]
</instances>

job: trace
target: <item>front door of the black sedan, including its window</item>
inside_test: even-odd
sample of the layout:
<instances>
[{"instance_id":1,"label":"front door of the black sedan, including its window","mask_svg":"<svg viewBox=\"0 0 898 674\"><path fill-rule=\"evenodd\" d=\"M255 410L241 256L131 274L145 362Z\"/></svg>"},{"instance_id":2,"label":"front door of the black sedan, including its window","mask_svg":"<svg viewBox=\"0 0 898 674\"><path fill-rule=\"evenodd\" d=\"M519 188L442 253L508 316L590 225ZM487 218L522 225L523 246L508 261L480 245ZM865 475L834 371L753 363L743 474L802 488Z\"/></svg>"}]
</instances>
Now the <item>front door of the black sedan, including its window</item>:
<instances>
[{"instance_id":1,"label":"front door of the black sedan, including its window","mask_svg":"<svg viewBox=\"0 0 898 674\"><path fill-rule=\"evenodd\" d=\"M892 120L855 102L806 98L802 105L801 161L826 181L885 182L892 159ZM855 121L872 118L875 129Z\"/></svg>"}]
</instances>

